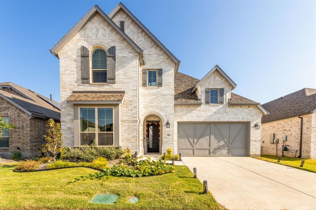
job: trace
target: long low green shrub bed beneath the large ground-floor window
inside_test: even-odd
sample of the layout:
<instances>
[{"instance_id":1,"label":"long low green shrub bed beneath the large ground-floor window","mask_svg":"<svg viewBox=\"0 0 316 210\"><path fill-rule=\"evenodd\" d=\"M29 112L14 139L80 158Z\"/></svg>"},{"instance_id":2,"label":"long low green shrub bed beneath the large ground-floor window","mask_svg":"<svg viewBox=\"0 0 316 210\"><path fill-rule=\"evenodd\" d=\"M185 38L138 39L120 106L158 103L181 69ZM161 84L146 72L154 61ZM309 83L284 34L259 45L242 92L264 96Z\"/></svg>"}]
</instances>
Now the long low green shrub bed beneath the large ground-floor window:
<instances>
[{"instance_id":1,"label":"long low green shrub bed beneath the large ground-floor window","mask_svg":"<svg viewBox=\"0 0 316 210\"><path fill-rule=\"evenodd\" d=\"M84 160L91 162L98 157L114 160L123 154L124 151L120 146L97 147L97 145L93 144L91 146L85 145L81 148L69 147L62 153L61 157L72 161Z\"/></svg>"}]
</instances>

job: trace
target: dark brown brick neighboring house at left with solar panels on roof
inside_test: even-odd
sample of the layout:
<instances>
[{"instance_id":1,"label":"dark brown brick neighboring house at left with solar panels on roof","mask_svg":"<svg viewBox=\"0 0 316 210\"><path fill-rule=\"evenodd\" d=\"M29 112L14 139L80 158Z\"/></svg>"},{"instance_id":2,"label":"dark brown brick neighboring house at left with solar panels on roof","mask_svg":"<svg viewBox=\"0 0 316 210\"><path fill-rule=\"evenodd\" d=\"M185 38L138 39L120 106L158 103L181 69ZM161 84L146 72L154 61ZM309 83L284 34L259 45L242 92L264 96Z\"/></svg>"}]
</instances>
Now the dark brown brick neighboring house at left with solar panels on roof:
<instances>
[{"instance_id":1,"label":"dark brown brick neighboring house at left with solar panels on roof","mask_svg":"<svg viewBox=\"0 0 316 210\"><path fill-rule=\"evenodd\" d=\"M40 155L47 120L60 122L60 103L12 82L0 83L0 116L16 128L0 139L0 155L20 149L24 156Z\"/></svg>"}]
</instances>

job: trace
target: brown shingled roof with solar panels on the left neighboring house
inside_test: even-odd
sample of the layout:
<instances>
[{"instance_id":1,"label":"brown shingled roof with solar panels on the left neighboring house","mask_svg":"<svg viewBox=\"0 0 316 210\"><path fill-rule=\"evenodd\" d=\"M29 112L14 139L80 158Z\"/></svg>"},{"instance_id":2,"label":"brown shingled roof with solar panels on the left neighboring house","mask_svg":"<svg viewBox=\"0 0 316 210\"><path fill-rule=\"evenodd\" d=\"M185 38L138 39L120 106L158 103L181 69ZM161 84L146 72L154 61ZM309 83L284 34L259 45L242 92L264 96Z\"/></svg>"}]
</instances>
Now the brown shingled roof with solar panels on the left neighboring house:
<instances>
[{"instance_id":1,"label":"brown shingled roof with solar panels on the left neighboring house","mask_svg":"<svg viewBox=\"0 0 316 210\"><path fill-rule=\"evenodd\" d=\"M47 102L42 96L32 90L28 90L12 82L0 83L0 87L9 87L18 92L21 96L0 90L0 97L10 102L17 108L31 116L53 118L60 121L60 104L56 101ZM48 99L48 98L47 98ZM55 105L53 105L55 104Z\"/></svg>"}]
</instances>

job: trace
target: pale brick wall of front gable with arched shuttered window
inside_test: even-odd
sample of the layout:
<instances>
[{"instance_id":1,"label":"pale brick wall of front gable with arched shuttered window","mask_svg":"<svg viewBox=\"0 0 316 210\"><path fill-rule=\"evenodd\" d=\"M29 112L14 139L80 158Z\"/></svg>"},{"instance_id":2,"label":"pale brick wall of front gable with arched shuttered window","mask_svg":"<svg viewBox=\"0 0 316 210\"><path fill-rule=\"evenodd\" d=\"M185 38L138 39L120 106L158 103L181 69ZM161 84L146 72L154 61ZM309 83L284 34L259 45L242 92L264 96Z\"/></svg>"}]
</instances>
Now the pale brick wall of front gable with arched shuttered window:
<instances>
[{"instance_id":1,"label":"pale brick wall of front gable with arched shuttered window","mask_svg":"<svg viewBox=\"0 0 316 210\"><path fill-rule=\"evenodd\" d=\"M92 85L81 83L81 46L90 54L97 46L105 49L116 46L116 83ZM124 90L121 105L120 144L132 150L138 147L137 73L138 52L99 14L95 15L59 52L61 126L65 145L74 145L73 105L66 98L73 90L105 91Z\"/></svg>"}]
</instances>

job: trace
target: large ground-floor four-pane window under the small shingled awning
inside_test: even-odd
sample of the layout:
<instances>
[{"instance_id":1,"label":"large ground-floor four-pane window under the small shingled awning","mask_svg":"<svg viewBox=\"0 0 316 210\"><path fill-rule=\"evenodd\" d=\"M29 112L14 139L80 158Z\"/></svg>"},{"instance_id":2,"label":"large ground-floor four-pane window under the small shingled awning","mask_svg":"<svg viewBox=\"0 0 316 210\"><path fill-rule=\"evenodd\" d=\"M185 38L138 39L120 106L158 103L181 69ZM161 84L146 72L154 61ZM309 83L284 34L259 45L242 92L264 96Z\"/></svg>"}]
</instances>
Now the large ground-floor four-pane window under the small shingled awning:
<instances>
[{"instance_id":1,"label":"large ground-floor four-pane window under the small shingled awning","mask_svg":"<svg viewBox=\"0 0 316 210\"><path fill-rule=\"evenodd\" d=\"M113 145L113 108L80 108L80 145L94 139L99 146Z\"/></svg>"}]
</instances>

